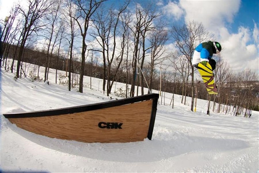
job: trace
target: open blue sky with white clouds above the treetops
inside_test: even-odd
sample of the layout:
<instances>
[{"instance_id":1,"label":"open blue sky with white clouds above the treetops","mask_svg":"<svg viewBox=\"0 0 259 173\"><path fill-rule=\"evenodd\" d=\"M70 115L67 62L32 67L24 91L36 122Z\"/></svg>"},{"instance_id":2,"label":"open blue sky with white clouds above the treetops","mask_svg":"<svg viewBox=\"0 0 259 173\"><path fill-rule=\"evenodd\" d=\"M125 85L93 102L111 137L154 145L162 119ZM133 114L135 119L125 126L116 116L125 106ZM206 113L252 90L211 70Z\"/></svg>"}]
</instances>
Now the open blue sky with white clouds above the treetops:
<instances>
[{"instance_id":1,"label":"open blue sky with white clouds above the treetops","mask_svg":"<svg viewBox=\"0 0 259 173\"><path fill-rule=\"evenodd\" d=\"M14 1L17 0L0 0L1 20L8 16ZM20 4L22 1L20 0ZM220 42L223 48L221 58L229 63L234 72L250 68L258 74L259 2L257 0L133 1L142 5L152 2L172 23L183 24L190 20L202 22L208 31L214 33L215 41Z\"/></svg>"}]
</instances>

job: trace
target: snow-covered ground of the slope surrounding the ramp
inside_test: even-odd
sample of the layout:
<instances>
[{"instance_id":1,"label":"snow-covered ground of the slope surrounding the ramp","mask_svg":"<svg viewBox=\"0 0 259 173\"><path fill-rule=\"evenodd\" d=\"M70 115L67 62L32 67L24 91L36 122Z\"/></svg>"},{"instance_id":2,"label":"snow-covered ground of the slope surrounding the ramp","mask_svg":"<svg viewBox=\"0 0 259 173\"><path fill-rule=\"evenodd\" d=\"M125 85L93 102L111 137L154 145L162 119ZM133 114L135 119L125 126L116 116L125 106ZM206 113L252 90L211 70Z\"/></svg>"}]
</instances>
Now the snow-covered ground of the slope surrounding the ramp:
<instances>
[{"instance_id":1,"label":"snow-covered ground of the slope surrounding the ramp","mask_svg":"<svg viewBox=\"0 0 259 173\"><path fill-rule=\"evenodd\" d=\"M44 77L41 68L40 76ZM61 72L60 73L65 73ZM166 93L165 105L157 106L152 140L128 143L84 143L37 135L11 124L3 113L48 110L109 101L120 97L102 93L102 80L84 78L84 93L68 91L55 84L50 69L50 85L30 78L14 80L14 74L1 69L2 172L259 172L258 112L251 118L207 113L207 101L191 98L181 104ZM59 81L58 81L59 82ZM115 84L114 84L115 86ZM117 83L116 89L125 84ZM153 93L158 93L153 91ZM159 101L160 102L160 101ZM212 105L212 104L211 104Z\"/></svg>"}]
</instances>

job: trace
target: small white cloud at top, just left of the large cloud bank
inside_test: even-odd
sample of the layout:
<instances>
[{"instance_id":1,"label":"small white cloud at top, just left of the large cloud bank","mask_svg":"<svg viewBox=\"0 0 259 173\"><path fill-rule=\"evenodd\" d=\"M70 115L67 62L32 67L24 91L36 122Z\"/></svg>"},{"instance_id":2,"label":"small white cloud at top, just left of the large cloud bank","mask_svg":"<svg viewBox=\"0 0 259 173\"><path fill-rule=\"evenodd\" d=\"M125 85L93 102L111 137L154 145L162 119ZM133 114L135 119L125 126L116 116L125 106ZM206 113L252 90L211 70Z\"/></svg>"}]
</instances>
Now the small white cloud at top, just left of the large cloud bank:
<instances>
[{"instance_id":1,"label":"small white cloud at top, just left of the large cloud bank","mask_svg":"<svg viewBox=\"0 0 259 173\"><path fill-rule=\"evenodd\" d=\"M180 8L177 3L172 1L169 1L169 3L163 7L163 11L166 15L173 16L176 20L179 20L184 14L184 10Z\"/></svg>"}]
</instances>

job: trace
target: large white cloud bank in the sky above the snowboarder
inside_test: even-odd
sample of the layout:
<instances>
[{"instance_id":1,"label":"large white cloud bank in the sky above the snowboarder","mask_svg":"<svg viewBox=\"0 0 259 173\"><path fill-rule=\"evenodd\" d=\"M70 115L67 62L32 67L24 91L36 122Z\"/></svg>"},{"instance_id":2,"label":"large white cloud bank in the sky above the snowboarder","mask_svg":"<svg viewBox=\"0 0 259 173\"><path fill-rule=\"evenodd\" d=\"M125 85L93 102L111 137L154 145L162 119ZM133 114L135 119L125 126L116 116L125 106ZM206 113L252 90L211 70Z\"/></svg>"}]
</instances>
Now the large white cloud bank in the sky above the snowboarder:
<instances>
[{"instance_id":1,"label":"large white cloud bank in the sky above the snowboarder","mask_svg":"<svg viewBox=\"0 0 259 173\"><path fill-rule=\"evenodd\" d=\"M249 68L258 71L258 27L254 29L239 27L232 33L227 25L233 23L234 16L239 12L241 1L186 1L169 2L164 10L167 14L179 19L184 16L189 21L201 22L205 29L214 33L214 38L222 46L221 57L234 72Z\"/></svg>"}]
</instances>

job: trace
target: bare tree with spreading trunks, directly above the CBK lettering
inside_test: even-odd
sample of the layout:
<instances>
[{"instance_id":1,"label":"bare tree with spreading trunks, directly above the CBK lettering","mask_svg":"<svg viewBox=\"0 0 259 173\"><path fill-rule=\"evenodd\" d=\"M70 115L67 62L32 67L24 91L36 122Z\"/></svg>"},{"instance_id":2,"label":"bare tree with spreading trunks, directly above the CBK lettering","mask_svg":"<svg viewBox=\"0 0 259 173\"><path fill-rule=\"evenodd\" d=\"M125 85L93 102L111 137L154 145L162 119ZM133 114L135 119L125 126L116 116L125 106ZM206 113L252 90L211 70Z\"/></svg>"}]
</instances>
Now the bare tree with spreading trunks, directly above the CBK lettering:
<instances>
[{"instance_id":1,"label":"bare tree with spreading trunks, directly above the CBK lettering","mask_svg":"<svg viewBox=\"0 0 259 173\"><path fill-rule=\"evenodd\" d=\"M106 74L107 74L107 96L109 96L109 93L111 92L111 88L113 85L113 82L117 76L118 69L120 67L122 57L123 57L123 50L124 46L122 45L121 48L116 47L116 38L118 33L118 25L120 24L120 18L121 14L126 10L127 6L129 4L129 1L125 2L121 7L119 7L119 10L114 11L113 7L111 7L109 10L102 9L97 14L98 21L94 22L94 27L96 29L96 32L92 34L92 37L95 38L96 42L100 45L99 51L102 53L103 57L103 91L105 91L105 83L106 83ZM122 36L123 38L123 36ZM124 38L123 38L124 39ZM122 40L122 43L125 44L125 42ZM116 56L115 50L119 49L120 52L119 55ZM116 60L120 63L118 63L118 66L116 67L115 75L113 76L113 79L111 79L111 68L113 65L113 60L116 57ZM106 63L107 63L107 70L106 70ZM111 80L113 80L111 82Z\"/></svg>"}]
</instances>

